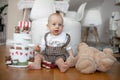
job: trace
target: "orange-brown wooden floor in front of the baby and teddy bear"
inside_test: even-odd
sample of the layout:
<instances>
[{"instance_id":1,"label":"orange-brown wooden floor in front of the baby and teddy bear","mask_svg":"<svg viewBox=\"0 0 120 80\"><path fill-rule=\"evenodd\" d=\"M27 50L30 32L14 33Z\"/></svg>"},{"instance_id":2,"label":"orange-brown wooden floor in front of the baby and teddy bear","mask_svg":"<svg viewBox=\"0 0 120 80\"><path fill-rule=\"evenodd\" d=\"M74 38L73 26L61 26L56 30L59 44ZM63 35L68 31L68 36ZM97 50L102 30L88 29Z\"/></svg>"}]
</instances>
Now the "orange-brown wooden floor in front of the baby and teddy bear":
<instances>
[{"instance_id":1,"label":"orange-brown wooden floor in front of the baby and teddy bear","mask_svg":"<svg viewBox=\"0 0 120 80\"><path fill-rule=\"evenodd\" d=\"M116 63L108 72L81 74L75 68L61 73L57 68L28 70L11 68L5 65L5 56L9 55L9 47L0 46L0 80L120 80L120 63Z\"/></svg>"}]
</instances>

